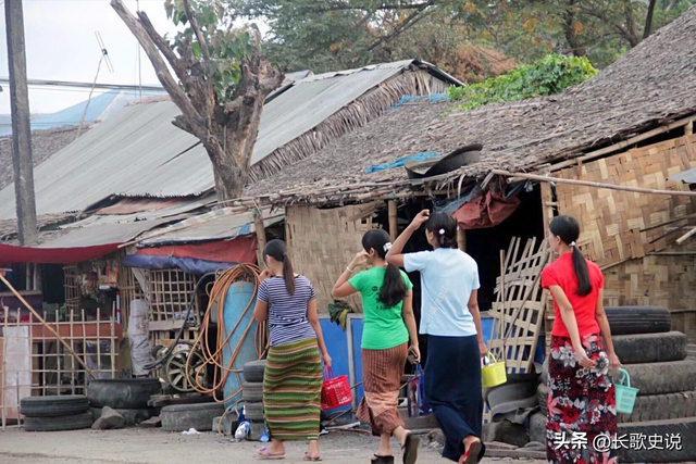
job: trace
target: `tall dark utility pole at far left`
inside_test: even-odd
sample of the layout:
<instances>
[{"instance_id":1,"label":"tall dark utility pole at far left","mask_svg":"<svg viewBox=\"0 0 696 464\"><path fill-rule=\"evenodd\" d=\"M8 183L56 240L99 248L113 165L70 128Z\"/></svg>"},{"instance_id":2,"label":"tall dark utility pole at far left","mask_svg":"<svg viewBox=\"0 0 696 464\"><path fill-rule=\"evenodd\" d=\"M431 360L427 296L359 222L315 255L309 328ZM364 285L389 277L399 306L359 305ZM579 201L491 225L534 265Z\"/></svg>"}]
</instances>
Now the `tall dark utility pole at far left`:
<instances>
[{"instance_id":1,"label":"tall dark utility pole at far left","mask_svg":"<svg viewBox=\"0 0 696 464\"><path fill-rule=\"evenodd\" d=\"M24 50L24 13L22 0L4 1L8 30L8 68L10 70L10 101L12 108L12 162L14 164L14 196L17 209L20 243L36 244L38 226L34 197L34 163L32 161L32 125L29 93L26 81Z\"/></svg>"}]
</instances>

